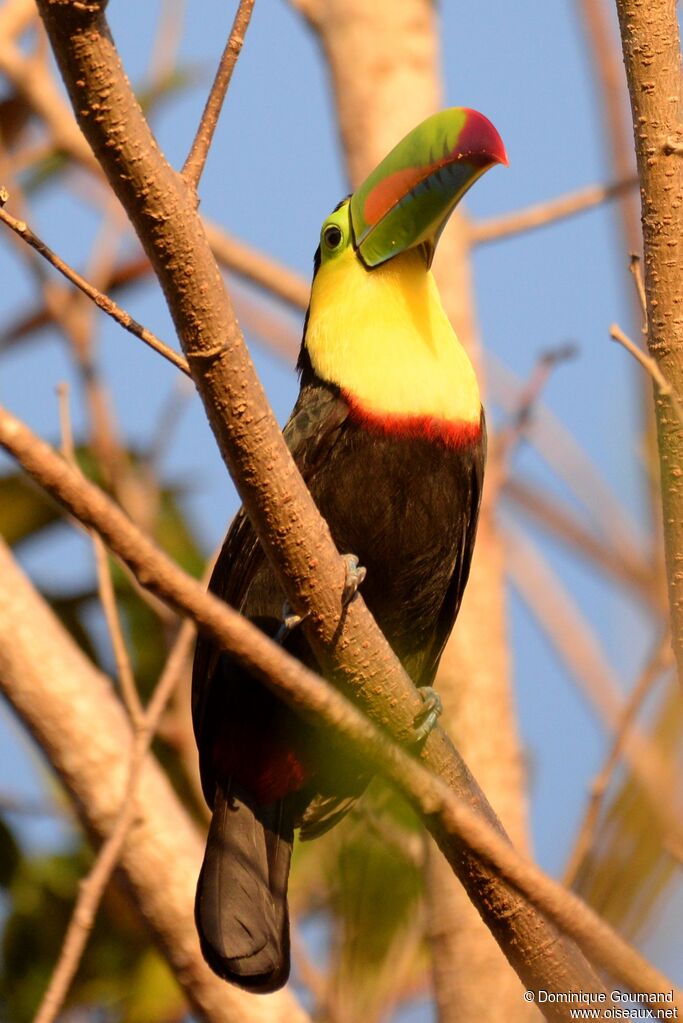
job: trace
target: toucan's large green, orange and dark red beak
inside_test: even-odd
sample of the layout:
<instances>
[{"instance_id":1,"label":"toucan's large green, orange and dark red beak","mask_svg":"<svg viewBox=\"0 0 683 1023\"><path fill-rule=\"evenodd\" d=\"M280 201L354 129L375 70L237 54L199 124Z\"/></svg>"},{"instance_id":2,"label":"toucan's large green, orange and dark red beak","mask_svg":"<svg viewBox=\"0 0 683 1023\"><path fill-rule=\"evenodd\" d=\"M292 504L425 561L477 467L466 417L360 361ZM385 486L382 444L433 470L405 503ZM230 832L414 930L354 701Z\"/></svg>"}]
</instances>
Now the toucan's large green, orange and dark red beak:
<instances>
[{"instance_id":1,"label":"toucan's large green, orange and dark red beak","mask_svg":"<svg viewBox=\"0 0 683 1023\"><path fill-rule=\"evenodd\" d=\"M413 128L351 197L356 251L367 267L417 246L431 263L439 235L467 189L495 164L502 139L476 110L453 106Z\"/></svg>"}]
</instances>

